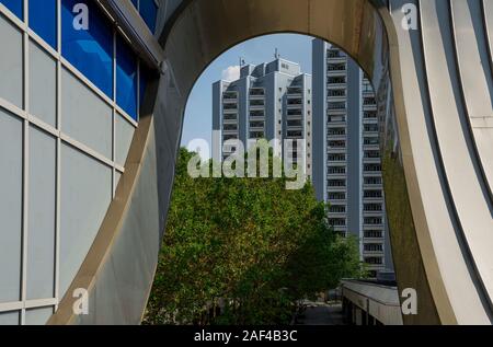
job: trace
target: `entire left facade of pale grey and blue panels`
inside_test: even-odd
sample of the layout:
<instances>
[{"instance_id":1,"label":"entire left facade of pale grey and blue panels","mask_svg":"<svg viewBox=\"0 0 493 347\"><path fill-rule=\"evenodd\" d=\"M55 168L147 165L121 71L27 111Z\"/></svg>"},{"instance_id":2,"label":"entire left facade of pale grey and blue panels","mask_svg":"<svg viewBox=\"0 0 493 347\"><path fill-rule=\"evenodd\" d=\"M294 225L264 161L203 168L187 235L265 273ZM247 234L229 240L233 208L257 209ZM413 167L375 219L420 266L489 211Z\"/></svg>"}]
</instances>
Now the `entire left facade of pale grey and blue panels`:
<instances>
[{"instance_id":1,"label":"entire left facade of pale grey and blue panels","mask_svg":"<svg viewBox=\"0 0 493 347\"><path fill-rule=\"evenodd\" d=\"M44 324L125 173L150 72L93 0L0 4L0 324Z\"/></svg>"}]
</instances>

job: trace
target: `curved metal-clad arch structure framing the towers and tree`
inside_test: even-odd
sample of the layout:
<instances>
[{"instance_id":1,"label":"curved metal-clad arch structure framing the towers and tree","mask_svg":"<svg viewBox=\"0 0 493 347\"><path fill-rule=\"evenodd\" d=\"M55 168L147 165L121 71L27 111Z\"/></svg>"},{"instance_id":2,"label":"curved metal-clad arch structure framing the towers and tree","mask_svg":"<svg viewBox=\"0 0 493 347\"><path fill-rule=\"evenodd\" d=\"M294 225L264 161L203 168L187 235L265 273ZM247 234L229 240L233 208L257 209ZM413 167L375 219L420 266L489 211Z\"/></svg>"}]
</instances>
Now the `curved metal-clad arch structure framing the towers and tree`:
<instances>
[{"instance_id":1,"label":"curved metal-clad arch structure framing the towers and tree","mask_svg":"<svg viewBox=\"0 0 493 347\"><path fill-rule=\"evenodd\" d=\"M383 178L399 289L419 294L419 312L404 323L492 323L493 0L161 2L162 50L135 30L129 1L102 1L135 44L148 47L146 61L162 60L162 73L146 93L116 197L50 324L139 323L187 95L221 53L279 32L342 47L372 80L386 115ZM77 288L89 290L89 315L73 314Z\"/></svg>"}]
</instances>

